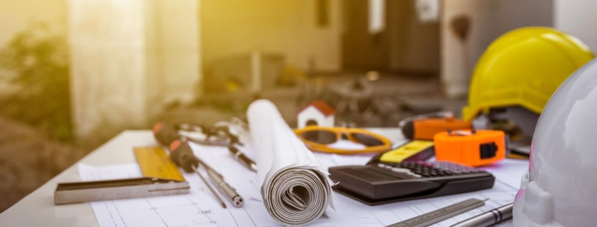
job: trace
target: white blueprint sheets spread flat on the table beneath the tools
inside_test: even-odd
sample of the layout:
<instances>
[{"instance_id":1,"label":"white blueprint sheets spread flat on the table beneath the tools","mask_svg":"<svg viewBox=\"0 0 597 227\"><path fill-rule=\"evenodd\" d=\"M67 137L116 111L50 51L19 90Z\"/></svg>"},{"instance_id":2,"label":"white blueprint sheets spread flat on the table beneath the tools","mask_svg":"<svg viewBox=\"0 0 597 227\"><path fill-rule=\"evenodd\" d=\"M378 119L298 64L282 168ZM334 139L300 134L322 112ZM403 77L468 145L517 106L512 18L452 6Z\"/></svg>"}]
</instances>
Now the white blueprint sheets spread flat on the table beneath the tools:
<instances>
[{"instance_id":1,"label":"white blueprint sheets spread flat on the table beneath the tools","mask_svg":"<svg viewBox=\"0 0 597 227\"><path fill-rule=\"evenodd\" d=\"M199 145L193 145L193 148L197 156L222 173L232 187L236 187L237 192L245 199L244 206L236 208L226 201L228 209L223 209L196 174L185 173L184 177L191 185L190 194L92 202L91 205L100 226L281 226L269 216L261 202L256 173L235 161L225 148ZM248 156L253 156L251 150L248 147L244 152ZM133 152L132 149L131 152ZM321 163L328 166L362 165L368 160L367 156L337 156L321 153L317 153L316 156ZM492 189L447 197L367 206L336 194L333 202L335 209L328 207L326 214L309 226L386 226L465 199L489 199L485 206L432 225L450 226L512 202L520 184L519 179L528 168L527 166L528 161L502 161L500 165L485 168L497 177ZM81 180L141 177L141 170L136 163L102 167L81 164L78 167ZM220 196L223 197L221 194ZM512 224L502 223L500 226L512 226Z\"/></svg>"}]
</instances>

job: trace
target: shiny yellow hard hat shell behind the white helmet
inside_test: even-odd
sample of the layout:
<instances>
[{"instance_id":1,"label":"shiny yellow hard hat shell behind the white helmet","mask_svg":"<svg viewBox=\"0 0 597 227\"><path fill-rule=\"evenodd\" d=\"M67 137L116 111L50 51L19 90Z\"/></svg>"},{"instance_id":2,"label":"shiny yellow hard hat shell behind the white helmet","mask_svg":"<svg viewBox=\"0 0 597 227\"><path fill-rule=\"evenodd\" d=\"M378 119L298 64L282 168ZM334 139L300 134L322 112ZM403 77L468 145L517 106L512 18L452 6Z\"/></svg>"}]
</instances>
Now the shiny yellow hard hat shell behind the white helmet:
<instances>
[{"instance_id":1,"label":"shiny yellow hard hat shell behind the white helmet","mask_svg":"<svg viewBox=\"0 0 597 227\"><path fill-rule=\"evenodd\" d=\"M509 106L540 114L555 89L593 57L584 43L558 30L512 30L487 47L477 62L463 119Z\"/></svg>"}]
</instances>

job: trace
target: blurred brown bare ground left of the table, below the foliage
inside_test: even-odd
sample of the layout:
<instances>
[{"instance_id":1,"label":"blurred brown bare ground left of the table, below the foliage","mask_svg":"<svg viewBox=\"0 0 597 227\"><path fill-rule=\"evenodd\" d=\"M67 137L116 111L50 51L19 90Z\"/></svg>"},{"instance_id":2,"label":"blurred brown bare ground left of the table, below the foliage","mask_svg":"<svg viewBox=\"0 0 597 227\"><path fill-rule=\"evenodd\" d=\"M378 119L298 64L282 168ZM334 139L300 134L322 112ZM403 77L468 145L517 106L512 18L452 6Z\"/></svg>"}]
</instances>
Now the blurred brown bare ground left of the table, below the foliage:
<instances>
[{"instance_id":1,"label":"blurred brown bare ground left of the table, below the foliage","mask_svg":"<svg viewBox=\"0 0 597 227\"><path fill-rule=\"evenodd\" d=\"M83 156L83 151L0 117L0 212Z\"/></svg>"}]
</instances>

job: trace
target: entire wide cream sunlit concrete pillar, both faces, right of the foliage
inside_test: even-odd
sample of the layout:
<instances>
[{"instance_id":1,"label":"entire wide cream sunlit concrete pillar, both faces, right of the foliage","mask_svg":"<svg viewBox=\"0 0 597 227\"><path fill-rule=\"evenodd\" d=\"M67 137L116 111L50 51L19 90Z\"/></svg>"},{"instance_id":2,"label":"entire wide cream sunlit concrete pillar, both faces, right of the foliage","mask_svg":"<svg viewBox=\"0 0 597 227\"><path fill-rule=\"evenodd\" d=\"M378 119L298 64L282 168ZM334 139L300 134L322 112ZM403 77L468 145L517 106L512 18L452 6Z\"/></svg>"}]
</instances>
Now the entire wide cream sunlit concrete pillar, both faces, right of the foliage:
<instances>
[{"instance_id":1,"label":"entire wide cream sunlit concrete pillar, both faces, right of the foliage","mask_svg":"<svg viewBox=\"0 0 597 227\"><path fill-rule=\"evenodd\" d=\"M194 0L69 0L76 135L144 127L199 81Z\"/></svg>"}]
</instances>

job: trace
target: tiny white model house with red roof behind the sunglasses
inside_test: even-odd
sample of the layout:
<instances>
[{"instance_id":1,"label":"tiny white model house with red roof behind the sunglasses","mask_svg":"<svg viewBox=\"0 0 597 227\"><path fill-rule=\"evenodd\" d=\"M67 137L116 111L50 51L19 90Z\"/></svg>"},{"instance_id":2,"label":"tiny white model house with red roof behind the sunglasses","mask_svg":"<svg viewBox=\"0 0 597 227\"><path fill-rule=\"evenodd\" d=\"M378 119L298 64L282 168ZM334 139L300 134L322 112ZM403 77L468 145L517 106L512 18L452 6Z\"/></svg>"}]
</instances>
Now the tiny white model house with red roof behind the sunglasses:
<instances>
[{"instance_id":1,"label":"tiny white model house with red roof behind the sunglasses","mask_svg":"<svg viewBox=\"0 0 597 227\"><path fill-rule=\"evenodd\" d=\"M308 125L333 127L334 115L336 115L336 110L323 100L316 100L297 112L298 128Z\"/></svg>"}]
</instances>

